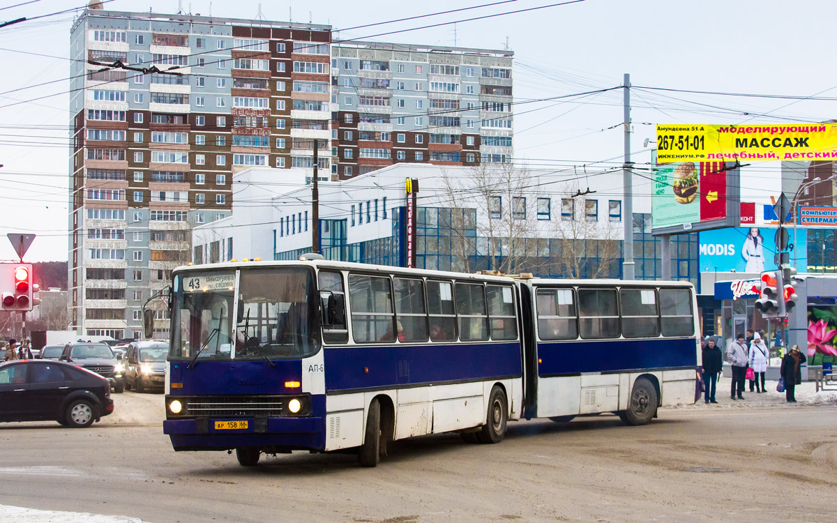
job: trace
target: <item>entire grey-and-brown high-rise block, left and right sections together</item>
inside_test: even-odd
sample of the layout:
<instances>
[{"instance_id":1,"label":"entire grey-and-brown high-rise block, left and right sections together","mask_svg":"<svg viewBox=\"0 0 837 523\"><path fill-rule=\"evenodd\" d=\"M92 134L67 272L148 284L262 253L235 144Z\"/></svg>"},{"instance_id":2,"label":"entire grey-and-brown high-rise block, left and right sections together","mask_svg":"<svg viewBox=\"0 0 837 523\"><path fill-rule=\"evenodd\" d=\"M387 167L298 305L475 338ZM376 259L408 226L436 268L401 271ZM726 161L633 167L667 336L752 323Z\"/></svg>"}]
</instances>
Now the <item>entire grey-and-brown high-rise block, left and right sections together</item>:
<instances>
[{"instance_id":1,"label":"entire grey-and-brown high-rise block, left and right sections together","mask_svg":"<svg viewBox=\"0 0 837 523\"><path fill-rule=\"evenodd\" d=\"M99 4L74 23L70 58L81 335L140 334L146 300L193 259L191 229L231 213L236 172L311 168L315 144L333 179L397 162L511 162L511 51L332 45L327 25ZM165 336L162 300L151 308Z\"/></svg>"}]
</instances>

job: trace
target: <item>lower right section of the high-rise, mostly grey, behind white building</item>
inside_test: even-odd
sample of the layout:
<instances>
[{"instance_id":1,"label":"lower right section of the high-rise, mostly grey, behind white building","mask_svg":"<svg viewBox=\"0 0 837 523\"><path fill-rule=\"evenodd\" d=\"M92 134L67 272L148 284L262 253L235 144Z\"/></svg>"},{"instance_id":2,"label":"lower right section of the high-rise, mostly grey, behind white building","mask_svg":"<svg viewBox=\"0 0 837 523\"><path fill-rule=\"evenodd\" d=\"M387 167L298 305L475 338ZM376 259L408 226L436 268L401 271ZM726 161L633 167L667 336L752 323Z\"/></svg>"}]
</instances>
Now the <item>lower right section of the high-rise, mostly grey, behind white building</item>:
<instances>
[{"instance_id":1,"label":"lower right section of the high-rise, mostly grey, behind white building","mask_svg":"<svg viewBox=\"0 0 837 523\"><path fill-rule=\"evenodd\" d=\"M511 51L331 47L332 172L511 162Z\"/></svg>"}]
</instances>

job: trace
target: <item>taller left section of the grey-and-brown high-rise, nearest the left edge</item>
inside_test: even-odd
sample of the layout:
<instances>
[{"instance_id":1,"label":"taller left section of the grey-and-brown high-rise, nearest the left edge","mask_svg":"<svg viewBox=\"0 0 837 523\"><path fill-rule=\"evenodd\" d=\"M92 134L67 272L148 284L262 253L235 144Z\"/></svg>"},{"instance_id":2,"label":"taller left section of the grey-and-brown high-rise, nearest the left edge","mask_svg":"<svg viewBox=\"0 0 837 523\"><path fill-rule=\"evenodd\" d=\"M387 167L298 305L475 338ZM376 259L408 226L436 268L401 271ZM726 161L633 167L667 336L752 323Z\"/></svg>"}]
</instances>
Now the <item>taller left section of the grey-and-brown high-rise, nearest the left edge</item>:
<instances>
[{"instance_id":1,"label":"taller left section of the grey-and-brown high-rise, nearest the left edge","mask_svg":"<svg viewBox=\"0 0 837 523\"><path fill-rule=\"evenodd\" d=\"M235 172L311 167L315 138L327 150L330 42L307 23L97 9L74 23L71 328L138 335L142 305L192 259L191 228L229 215ZM146 71L99 65L115 63Z\"/></svg>"}]
</instances>

